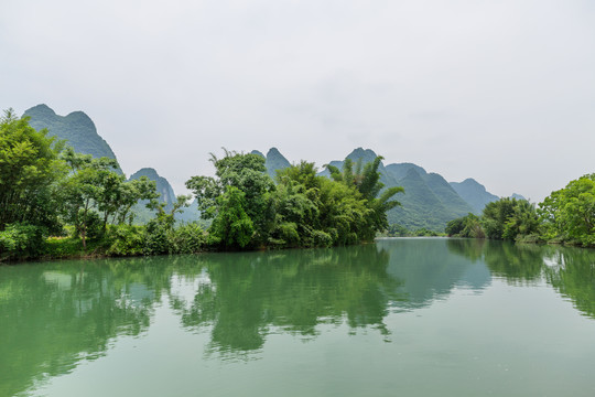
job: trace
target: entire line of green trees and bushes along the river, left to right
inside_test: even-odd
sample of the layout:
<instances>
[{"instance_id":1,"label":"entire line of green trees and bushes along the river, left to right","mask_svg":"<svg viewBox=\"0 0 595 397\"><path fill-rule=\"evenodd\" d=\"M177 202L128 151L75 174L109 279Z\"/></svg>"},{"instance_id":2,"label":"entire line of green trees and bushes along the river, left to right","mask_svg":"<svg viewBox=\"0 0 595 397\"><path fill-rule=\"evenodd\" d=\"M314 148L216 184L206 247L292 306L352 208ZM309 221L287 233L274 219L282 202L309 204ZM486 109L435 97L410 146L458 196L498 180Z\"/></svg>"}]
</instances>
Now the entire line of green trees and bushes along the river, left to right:
<instances>
[{"instance_id":1,"label":"entire line of green trees and bushes along the river, left to right","mask_svg":"<svg viewBox=\"0 0 595 397\"><path fill-rule=\"evenodd\" d=\"M538 207L500 198L437 233L388 224L387 211L400 205L394 197L403 189L380 182L381 157L346 159L340 170L326 164L329 178L301 161L273 180L261 155L224 151L212 154L215 176L186 182L201 218L176 223L192 196L180 195L166 208L154 181L126 181L116 160L76 153L7 110L0 120L0 262L331 247L377 236L595 246L595 174L552 192ZM138 203L154 213L144 225L134 224Z\"/></svg>"}]
</instances>

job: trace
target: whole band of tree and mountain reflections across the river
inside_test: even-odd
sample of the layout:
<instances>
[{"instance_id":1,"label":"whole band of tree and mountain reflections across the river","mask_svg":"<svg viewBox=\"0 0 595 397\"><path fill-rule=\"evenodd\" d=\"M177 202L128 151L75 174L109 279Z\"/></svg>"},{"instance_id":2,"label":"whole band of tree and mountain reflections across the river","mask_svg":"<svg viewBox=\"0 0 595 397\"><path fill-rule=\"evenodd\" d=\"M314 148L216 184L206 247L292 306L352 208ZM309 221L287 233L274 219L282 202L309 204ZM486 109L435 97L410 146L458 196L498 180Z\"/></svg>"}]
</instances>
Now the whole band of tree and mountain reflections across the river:
<instances>
[{"instance_id":1,"label":"whole band of tree and mountain reflections across the river","mask_svg":"<svg viewBox=\"0 0 595 397\"><path fill-rule=\"evenodd\" d=\"M479 293L493 276L545 280L595 319L594 267L594 250L474 239L0 267L0 395L100 357L119 335L142 335L162 303L184 330L208 334L207 355L241 357L273 333L316 339L323 324L390 337L390 313L455 289Z\"/></svg>"}]
</instances>

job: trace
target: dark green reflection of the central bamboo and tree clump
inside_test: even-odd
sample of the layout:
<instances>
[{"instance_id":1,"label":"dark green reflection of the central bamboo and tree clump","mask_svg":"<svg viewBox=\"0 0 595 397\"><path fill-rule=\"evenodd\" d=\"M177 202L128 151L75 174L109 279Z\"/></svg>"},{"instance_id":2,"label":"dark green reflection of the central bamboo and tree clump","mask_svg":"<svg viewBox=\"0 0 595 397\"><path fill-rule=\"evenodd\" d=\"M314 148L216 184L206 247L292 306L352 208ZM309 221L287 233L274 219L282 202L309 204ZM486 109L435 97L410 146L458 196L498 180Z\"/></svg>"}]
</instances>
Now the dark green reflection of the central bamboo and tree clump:
<instances>
[{"instance_id":1,"label":"dark green reflection of the central bamboo and tree clump","mask_svg":"<svg viewBox=\"0 0 595 397\"><path fill-rule=\"evenodd\" d=\"M258 350L271 329L313 336L321 323L346 321L387 333L389 300L400 298L388 259L375 245L209 256L201 264L210 282L192 304L175 304L185 326L213 328L219 352Z\"/></svg>"}]
</instances>

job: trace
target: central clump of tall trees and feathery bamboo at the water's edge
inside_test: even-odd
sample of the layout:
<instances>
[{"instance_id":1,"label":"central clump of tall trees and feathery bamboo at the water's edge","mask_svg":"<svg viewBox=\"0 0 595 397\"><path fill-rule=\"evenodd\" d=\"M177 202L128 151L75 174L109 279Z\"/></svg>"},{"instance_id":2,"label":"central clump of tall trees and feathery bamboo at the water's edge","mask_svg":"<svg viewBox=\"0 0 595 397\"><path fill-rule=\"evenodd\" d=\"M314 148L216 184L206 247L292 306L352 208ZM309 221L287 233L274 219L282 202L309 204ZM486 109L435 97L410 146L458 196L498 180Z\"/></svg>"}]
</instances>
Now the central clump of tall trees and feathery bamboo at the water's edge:
<instances>
[{"instance_id":1,"label":"central clump of tall trees and feathery bamboo at the water's edge","mask_svg":"<svg viewBox=\"0 0 595 397\"><path fill-rule=\"evenodd\" d=\"M213 218L209 242L220 248L247 246L313 247L370 240L388 226L386 211L400 187L381 192L377 161L354 172L353 164L334 180L313 163L277 170L277 184L258 153L225 152L212 157L216 176L186 182L202 216ZM348 176L351 175L351 176Z\"/></svg>"}]
</instances>

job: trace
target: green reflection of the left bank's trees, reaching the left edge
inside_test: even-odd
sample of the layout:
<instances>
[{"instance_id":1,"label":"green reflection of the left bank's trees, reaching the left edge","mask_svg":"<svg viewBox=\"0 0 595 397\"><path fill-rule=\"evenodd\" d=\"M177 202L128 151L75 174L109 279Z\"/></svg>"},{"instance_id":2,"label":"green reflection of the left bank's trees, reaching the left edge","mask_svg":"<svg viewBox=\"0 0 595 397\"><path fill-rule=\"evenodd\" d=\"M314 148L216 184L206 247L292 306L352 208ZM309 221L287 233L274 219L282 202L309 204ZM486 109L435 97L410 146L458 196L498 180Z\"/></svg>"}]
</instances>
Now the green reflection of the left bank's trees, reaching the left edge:
<instances>
[{"instance_id":1,"label":"green reflection of the left bank's trees, reaching the left edge","mask_svg":"<svg viewBox=\"0 0 595 397\"><path fill-rule=\"evenodd\" d=\"M149 326L166 269L134 260L4 267L0 277L0 395L71 372L110 339Z\"/></svg>"}]
</instances>

